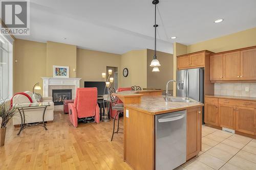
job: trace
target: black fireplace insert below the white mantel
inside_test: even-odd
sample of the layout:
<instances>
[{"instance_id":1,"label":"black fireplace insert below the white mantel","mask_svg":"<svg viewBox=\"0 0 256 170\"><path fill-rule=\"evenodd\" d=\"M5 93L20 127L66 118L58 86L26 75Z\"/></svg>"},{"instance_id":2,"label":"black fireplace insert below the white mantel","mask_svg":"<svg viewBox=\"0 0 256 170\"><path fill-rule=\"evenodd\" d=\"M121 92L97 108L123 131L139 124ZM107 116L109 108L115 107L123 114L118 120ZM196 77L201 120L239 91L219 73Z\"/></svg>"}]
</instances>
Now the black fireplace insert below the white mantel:
<instances>
[{"instance_id":1,"label":"black fireplace insert below the white mantel","mask_svg":"<svg viewBox=\"0 0 256 170\"><path fill-rule=\"evenodd\" d=\"M72 99L72 89L54 89L52 98L54 105L63 105L65 99Z\"/></svg>"}]
</instances>

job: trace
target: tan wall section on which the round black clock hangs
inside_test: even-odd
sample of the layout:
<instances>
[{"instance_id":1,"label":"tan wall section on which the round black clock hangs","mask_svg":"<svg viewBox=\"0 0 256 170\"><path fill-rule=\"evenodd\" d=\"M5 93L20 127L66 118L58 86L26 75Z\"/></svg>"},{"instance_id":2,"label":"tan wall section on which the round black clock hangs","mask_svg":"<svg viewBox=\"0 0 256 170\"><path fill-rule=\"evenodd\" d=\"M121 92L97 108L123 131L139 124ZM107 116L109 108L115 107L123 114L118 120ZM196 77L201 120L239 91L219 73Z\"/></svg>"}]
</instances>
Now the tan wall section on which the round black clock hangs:
<instances>
[{"instance_id":1,"label":"tan wall section on which the round black clock hangs","mask_svg":"<svg viewBox=\"0 0 256 170\"><path fill-rule=\"evenodd\" d=\"M140 86L146 88L146 49L145 50L133 50L121 55L121 86L131 87ZM124 68L128 68L129 74L127 77L123 77L122 71Z\"/></svg>"}]
</instances>

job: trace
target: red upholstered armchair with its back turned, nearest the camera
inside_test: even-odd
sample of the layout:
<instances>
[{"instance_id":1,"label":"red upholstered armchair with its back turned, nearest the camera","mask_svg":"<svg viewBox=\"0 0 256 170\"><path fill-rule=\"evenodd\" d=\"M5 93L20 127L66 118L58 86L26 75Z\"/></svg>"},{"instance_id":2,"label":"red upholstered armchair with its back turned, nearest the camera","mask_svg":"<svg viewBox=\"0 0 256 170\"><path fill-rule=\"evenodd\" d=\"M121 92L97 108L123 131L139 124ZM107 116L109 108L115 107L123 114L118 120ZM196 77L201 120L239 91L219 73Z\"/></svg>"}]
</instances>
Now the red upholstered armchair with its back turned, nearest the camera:
<instances>
[{"instance_id":1,"label":"red upholstered armchair with its back turned, nearest the camera","mask_svg":"<svg viewBox=\"0 0 256 170\"><path fill-rule=\"evenodd\" d=\"M97 104L97 88L77 88L74 103L69 103L69 119L77 128L78 118L94 116L99 123L99 106Z\"/></svg>"}]
</instances>

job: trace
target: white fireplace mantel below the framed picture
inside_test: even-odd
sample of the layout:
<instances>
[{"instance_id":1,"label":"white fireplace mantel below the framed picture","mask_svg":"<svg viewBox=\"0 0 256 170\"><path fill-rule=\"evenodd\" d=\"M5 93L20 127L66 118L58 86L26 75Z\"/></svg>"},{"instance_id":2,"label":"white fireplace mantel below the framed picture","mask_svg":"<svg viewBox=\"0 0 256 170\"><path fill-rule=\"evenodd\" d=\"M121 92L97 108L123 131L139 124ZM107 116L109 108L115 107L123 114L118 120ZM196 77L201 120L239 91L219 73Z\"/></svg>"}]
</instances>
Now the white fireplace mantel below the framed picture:
<instances>
[{"instance_id":1,"label":"white fireplace mantel below the framed picture","mask_svg":"<svg viewBox=\"0 0 256 170\"><path fill-rule=\"evenodd\" d=\"M81 78L53 78L53 77L41 77L42 78L42 87L44 97L49 96L49 86L75 86L78 88L80 86Z\"/></svg>"}]
</instances>

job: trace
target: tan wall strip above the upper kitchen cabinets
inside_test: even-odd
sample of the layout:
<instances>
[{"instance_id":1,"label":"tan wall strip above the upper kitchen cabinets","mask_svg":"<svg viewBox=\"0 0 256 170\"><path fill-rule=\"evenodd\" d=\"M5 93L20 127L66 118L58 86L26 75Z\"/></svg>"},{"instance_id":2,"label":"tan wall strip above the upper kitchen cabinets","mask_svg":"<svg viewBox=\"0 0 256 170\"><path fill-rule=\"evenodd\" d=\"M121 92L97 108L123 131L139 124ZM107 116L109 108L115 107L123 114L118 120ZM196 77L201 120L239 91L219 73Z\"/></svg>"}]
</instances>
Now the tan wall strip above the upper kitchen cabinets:
<instances>
[{"instance_id":1,"label":"tan wall strip above the upper kitchen cabinets","mask_svg":"<svg viewBox=\"0 0 256 170\"><path fill-rule=\"evenodd\" d=\"M193 53L202 50L211 52L223 52L238 48L256 45L256 28L229 34L219 38L210 39L187 46L187 53Z\"/></svg>"}]
</instances>

